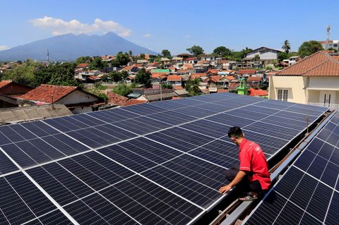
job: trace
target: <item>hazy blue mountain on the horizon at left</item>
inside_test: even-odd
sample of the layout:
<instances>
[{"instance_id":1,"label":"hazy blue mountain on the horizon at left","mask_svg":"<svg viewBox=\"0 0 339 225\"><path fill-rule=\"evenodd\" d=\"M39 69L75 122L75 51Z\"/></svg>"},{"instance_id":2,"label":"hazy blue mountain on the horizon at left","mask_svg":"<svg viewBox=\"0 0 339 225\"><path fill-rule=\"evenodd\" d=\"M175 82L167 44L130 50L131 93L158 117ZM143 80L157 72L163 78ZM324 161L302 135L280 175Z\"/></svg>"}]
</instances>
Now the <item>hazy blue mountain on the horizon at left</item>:
<instances>
[{"instance_id":1,"label":"hazy blue mountain on the horizon at left","mask_svg":"<svg viewBox=\"0 0 339 225\"><path fill-rule=\"evenodd\" d=\"M67 34L42 39L0 51L0 61L24 61L28 58L46 61L47 49L50 61L73 61L80 56L115 55L119 51L130 50L133 54L157 55L155 51L133 44L113 32L107 32L102 36Z\"/></svg>"}]
</instances>

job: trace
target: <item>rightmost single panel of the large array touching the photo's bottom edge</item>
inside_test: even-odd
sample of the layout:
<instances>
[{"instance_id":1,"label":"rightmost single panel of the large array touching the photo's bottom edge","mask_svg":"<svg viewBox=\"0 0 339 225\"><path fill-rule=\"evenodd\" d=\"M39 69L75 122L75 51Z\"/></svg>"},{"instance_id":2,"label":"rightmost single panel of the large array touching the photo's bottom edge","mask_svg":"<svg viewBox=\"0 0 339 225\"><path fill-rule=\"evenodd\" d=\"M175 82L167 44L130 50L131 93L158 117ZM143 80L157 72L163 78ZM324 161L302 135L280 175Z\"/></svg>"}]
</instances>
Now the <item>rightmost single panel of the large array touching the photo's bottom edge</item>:
<instances>
[{"instance_id":1,"label":"rightmost single panel of the large array touching the photo's bottom edge","mask_svg":"<svg viewBox=\"0 0 339 225\"><path fill-rule=\"evenodd\" d=\"M202 209L141 176L100 192L141 224L187 224Z\"/></svg>"}]
</instances>

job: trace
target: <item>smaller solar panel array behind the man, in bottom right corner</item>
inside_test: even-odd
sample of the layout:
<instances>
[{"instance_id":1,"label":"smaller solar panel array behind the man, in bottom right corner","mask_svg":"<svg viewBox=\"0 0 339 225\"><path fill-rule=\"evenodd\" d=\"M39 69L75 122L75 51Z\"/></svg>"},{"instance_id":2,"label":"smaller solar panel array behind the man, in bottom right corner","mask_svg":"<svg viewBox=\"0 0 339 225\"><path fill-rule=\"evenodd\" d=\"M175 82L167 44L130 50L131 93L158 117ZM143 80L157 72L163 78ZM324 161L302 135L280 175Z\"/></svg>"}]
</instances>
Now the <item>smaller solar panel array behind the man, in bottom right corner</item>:
<instances>
[{"instance_id":1,"label":"smaller solar panel array behind the man, in bottom right corner","mask_svg":"<svg viewBox=\"0 0 339 225\"><path fill-rule=\"evenodd\" d=\"M338 178L337 113L245 224L338 224Z\"/></svg>"}]
</instances>

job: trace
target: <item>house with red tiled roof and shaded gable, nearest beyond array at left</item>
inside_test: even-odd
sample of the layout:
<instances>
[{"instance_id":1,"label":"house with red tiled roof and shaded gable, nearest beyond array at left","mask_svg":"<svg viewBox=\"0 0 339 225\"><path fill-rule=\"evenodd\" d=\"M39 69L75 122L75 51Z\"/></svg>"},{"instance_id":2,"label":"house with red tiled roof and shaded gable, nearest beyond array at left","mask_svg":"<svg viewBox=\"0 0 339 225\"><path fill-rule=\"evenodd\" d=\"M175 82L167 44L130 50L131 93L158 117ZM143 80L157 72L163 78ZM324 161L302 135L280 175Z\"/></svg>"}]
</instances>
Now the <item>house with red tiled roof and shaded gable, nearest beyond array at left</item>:
<instances>
[{"instance_id":1,"label":"house with red tiled roof and shaded gable, nearest beyond array at left","mask_svg":"<svg viewBox=\"0 0 339 225\"><path fill-rule=\"evenodd\" d=\"M96 111L104 100L75 86L40 85L21 95L18 99L29 100L35 104L62 103L73 114Z\"/></svg>"}]
</instances>

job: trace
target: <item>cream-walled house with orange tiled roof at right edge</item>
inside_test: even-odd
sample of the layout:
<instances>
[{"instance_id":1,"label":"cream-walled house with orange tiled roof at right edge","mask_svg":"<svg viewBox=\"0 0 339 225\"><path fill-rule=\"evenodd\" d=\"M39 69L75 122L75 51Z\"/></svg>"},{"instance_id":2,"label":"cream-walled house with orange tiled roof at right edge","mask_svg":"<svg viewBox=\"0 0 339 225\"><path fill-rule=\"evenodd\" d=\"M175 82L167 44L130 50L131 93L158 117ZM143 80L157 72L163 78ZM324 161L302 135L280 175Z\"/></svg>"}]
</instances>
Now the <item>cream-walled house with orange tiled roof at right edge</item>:
<instances>
[{"instance_id":1,"label":"cream-walled house with orange tiled roof at right edge","mask_svg":"<svg viewBox=\"0 0 339 225\"><path fill-rule=\"evenodd\" d=\"M317 51L270 76L269 98L323 107L339 106L339 61Z\"/></svg>"}]
</instances>

